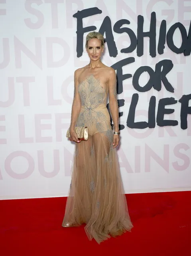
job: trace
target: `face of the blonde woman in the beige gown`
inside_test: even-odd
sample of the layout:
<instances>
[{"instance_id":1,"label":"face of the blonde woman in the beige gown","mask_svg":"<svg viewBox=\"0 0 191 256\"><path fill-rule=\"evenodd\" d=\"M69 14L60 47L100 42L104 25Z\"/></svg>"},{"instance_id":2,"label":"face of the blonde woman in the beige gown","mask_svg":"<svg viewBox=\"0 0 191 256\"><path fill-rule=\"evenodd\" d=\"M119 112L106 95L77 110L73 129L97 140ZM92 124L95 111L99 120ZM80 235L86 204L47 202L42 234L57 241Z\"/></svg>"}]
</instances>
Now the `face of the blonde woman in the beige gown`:
<instances>
[{"instance_id":1,"label":"face of the blonde woman in the beige gown","mask_svg":"<svg viewBox=\"0 0 191 256\"><path fill-rule=\"evenodd\" d=\"M87 53L91 60L96 61L101 57L103 48L101 46L101 40L92 38L88 41Z\"/></svg>"}]
</instances>

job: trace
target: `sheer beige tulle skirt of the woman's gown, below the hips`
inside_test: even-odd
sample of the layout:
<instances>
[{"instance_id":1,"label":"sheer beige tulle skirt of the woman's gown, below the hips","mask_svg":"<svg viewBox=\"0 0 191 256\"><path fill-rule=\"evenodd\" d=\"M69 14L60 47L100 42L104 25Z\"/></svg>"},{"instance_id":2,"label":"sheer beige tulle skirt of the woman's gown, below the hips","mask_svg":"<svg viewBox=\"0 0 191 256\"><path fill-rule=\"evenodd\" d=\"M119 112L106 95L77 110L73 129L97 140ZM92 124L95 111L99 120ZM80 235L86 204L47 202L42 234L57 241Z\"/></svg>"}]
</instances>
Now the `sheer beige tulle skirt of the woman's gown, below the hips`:
<instances>
[{"instance_id":1,"label":"sheer beige tulle skirt of the woman's gown, below the hips","mask_svg":"<svg viewBox=\"0 0 191 256\"><path fill-rule=\"evenodd\" d=\"M100 243L133 227L128 214L111 130L89 135L75 145L72 179L62 226L86 223L85 232Z\"/></svg>"}]
</instances>

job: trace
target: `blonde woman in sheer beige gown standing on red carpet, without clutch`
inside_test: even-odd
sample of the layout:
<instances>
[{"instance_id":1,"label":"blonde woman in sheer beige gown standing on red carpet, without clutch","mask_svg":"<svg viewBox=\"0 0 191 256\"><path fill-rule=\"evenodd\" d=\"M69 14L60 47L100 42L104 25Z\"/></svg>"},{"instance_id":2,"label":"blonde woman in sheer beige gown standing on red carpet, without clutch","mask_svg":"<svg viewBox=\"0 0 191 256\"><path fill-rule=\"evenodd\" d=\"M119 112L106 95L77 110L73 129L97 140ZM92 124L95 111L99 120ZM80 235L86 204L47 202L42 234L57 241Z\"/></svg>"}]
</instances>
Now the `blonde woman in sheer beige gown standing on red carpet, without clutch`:
<instances>
[{"instance_id":1,"label":"blonde woman in sheer beige gown standing on red carpet, without clutch","mask_svg":"<svg viewBox=\"0 0 191 256\"><path fill-rule=\"evenodd\" d=\"M110 236L130 231L132 223L116 154L120 140L116 74L114 69L100 60L104 50L102 34L89 33L86 50L90 63L77 69L74 75L70 140L77 144L62 226L86 223L85 231L89 240L95 238L100 243ZM108 96L114 132L106 108ZM88 127L87 141L77 138L75 126Z\"/></svg>"}]
</instances>

